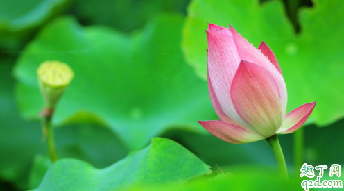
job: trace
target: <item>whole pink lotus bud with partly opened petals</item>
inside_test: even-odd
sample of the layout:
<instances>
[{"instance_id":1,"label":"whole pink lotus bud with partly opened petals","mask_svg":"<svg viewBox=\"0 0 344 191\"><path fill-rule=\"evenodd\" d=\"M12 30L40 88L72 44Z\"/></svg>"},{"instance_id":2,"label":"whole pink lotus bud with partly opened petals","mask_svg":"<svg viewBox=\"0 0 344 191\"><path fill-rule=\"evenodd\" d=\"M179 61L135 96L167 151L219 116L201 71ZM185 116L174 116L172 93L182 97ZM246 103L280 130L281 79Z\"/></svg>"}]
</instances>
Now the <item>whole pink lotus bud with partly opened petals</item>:
<instances>
[{"instance_id":1,"label":"whole pink lotus bud with partly opened petals","mask_svg":"<svg viewBox=\"0 0 344 191\"><path fill-rule=\"evenodd\" d=\"M232 26L209 24L208 86L218 121L200 121L210 133L235 144L255 142L298 130L316 102L286 115L288 94L273 51L258 49Z\"/></svg>"}]
</instances>

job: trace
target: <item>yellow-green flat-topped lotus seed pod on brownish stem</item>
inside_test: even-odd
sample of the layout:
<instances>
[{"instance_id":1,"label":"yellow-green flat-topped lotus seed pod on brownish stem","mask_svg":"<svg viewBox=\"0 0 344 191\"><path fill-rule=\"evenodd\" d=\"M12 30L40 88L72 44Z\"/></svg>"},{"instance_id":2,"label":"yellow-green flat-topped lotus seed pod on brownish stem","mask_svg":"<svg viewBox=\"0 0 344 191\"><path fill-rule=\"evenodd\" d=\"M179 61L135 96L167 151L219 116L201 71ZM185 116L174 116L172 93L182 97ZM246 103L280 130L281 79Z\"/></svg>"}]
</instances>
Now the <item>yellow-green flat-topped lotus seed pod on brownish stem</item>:
<instances>
[{"instance_id":1,"label":"yellow-green flat-topped lotus seed pod on brownish stem","mask_svg":"<svg viewBox=\"0 0 344 191\"><path fill-rule=\"evenodd\" d=\"M38 83L47 108L54 109L65 92L74 72L60 61L46 61L37 69Z\"/></svg>"}]
</instances>

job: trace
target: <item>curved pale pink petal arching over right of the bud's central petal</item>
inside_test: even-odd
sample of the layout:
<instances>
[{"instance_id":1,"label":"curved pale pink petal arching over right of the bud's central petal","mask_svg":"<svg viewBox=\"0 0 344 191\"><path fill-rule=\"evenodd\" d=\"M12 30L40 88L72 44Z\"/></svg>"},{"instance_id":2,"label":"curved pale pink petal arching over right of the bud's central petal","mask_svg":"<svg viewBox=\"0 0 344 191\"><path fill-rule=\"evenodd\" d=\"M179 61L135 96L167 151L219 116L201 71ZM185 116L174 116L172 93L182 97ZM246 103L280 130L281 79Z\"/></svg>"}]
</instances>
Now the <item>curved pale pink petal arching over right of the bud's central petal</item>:
<instances>
[{"instance_id":1,"label":"curved pale pink petal arching over right of the bud's central petal","mask_svg":"<svg viewBox=\"0 0 344 191\"><path fill-rule=\"evenodd\" d=\"M236 32L232 26L230 26L230 32L232 33L240 59L264 67L264 69L266 69L273 77L277 84L279 94L281 95L282 110L285 111L286 103L288 101L288 94L286 92L286 83L284 82L283 76L278 72L275 65L273 65L270 60L266 58L266 56L264 56L263 53L253 47L245 38ZM285 115L285 112L283 115Z\"/></svg>"}]
</instances>

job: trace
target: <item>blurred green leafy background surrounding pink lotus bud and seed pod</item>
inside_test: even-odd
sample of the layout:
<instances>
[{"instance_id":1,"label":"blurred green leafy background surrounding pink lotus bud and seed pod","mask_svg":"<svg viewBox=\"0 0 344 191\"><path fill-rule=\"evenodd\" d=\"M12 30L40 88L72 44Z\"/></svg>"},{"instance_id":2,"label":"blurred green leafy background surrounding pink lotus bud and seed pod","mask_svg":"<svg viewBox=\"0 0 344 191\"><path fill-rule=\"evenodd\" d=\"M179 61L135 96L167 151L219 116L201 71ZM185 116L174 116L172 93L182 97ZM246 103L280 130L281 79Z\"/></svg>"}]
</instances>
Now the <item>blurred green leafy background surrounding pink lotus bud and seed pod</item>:
<instances>
[{"instance_id":1,"label":"blurred green leafy background surrounding pink lotus bud and seed pod","mask_svg":"<svg viewBox=\"0 0 344 191\"><path fill-rule=\"evenodd\" d=\"M343 20L340 0L0 0L0 190L303 190L293 135L279 137L286 183L266 140L229 144L198 124L218 119L205 29L268 44L288 111L317 102L303 162L330 166L344 164ZM53 117L54 165L38 117L45 60L75 72Z\"/></svg>"}]
</instances>

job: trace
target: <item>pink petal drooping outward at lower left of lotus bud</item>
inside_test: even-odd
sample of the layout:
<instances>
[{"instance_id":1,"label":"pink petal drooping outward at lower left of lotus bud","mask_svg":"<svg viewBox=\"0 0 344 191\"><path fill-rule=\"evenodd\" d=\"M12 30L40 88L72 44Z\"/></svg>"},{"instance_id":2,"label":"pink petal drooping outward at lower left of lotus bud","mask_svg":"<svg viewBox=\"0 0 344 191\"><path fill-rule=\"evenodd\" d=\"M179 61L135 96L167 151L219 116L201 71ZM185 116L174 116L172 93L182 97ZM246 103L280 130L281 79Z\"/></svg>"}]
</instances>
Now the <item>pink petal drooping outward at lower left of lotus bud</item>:
<instances>
[{"instance_id":1,"label":"pink petal drooping outward at lower left of lotus bud","mask_svg":"<svg viewBox=\"0 0 344 191\"><path fill-rule=\"evenodd\" d=\"M241 128L234 124L218 121L198 121L209 133L217 138L234 144L243 144L247 142L255 142L264 139L263 136L252 133L245 128Z\"/></svg>"}]
</instances>

